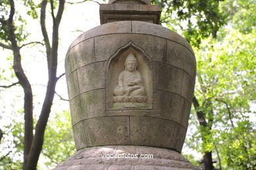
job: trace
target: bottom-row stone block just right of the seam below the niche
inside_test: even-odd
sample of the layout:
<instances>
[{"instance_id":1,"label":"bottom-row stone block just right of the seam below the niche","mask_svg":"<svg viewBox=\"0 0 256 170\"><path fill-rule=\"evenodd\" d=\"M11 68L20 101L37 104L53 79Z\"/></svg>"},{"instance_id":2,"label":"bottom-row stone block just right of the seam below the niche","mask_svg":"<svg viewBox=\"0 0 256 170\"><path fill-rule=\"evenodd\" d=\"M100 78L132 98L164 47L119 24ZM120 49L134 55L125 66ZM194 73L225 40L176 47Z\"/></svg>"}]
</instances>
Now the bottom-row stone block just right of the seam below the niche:
<instances>
[{"instance_id":1,"label":"bottom-row stone block just right of the seam below the niche","mask_svg":"<svg viewBox=\"0 0 256 170\"><path fill-rule=\"evenodd\" d=\"M131 144L174 148L175 123L160 118L131 116L130 126Z\"/></svg>"}]
</instances>

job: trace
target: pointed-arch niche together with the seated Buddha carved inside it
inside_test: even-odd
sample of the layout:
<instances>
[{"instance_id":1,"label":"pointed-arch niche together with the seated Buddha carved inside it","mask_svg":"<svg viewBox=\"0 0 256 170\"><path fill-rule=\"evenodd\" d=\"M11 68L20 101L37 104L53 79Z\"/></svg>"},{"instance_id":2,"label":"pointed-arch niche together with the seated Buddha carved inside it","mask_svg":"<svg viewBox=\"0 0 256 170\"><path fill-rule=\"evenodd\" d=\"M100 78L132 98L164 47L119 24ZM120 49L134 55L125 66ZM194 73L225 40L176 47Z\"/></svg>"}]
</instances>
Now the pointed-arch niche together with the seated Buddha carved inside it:
<instances>
[{"instance_id":1,"label":"pointed-arch niche together with the seated Buddha carved inside it","mask_svg":"<svg viewBox=\"0 0 256 170\"><path fill-rule=\"evenodd\" d=\"M152 109L152 61L139 46L121 46L106 71L107 109Z\"/></svg>"}]
</instances>

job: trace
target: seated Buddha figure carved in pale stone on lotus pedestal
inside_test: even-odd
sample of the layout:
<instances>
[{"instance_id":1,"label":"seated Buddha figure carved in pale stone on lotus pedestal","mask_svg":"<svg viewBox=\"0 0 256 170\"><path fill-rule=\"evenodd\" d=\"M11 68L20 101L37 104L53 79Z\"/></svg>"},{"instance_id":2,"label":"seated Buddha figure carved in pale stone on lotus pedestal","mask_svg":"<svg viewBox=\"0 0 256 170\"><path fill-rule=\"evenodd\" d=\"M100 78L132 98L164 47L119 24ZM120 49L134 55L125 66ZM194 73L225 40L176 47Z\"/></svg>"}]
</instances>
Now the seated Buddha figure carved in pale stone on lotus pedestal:
<instances>
[{"instance_id":1,"label":"seated Buddha figure carved in pale stone on lotus pedestal","mask_svg":"<svg viewBox=\"0 0 256 170\"><path fill-rule=\"evenodd\" d=\"M119 74L114 88L114 103L146 103L147 100L142 76L137 71L137 59L130 53L125 59L125 70Z\"/></svg>"}]
</instances>

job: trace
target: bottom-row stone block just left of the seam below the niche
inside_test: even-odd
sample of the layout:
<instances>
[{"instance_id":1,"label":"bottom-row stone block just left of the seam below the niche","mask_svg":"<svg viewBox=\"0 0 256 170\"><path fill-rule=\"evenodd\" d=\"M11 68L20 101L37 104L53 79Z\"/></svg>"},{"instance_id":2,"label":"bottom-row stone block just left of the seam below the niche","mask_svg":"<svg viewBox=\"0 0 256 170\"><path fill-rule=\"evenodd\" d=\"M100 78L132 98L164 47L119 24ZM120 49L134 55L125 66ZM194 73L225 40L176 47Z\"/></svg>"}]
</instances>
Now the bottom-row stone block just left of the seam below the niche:
<instances>
[{"instance_id":1,"label":"bottom-row stone block just left of the seam below the niche","mask_svg":"<svg viewBox=\"0 0 256 170\"><path fill-rule=\"evenodd\" d=\"M87 146L127 144L129 142L129 117L108 116L84 121Z\"/></svg>"}]
</instances>

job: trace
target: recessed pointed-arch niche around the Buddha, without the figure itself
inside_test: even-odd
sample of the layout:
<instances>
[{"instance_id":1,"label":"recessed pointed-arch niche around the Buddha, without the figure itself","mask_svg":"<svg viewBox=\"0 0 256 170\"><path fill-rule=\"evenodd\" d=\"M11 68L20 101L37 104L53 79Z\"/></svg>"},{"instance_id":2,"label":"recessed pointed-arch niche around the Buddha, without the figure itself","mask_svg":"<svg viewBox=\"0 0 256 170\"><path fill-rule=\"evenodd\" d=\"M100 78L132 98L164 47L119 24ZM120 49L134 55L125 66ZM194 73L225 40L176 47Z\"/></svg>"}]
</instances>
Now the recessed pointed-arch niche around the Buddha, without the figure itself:
<instances>
[{"instance_id":1,"label":"recessed pointed-arch niche around the Buddha, without the figure itself","mask_svg":"<svg viewBox=\"0 0 256 170\"><path fill-rule=\"evenodd\" d=\"M114 99L114 90L118 84L118 77L125 70L125 59L129 54L133 54L137 59L137 71L142 77L142 86L146 92L146 100L131 97L129 101L118 102ZM152 109L153 82L152 82L152 61L151 58L137 45L129 42L122 46L108 59L106 74L106 107L107 109ZM122 98L122 97L121 97ZM129 98L129 97L128 97ZM127 98L126 98L127 99ZM133 100L135 99L135 100ZM133 102L135 101L135 102Z\"/></svg>"}]
</instances>

